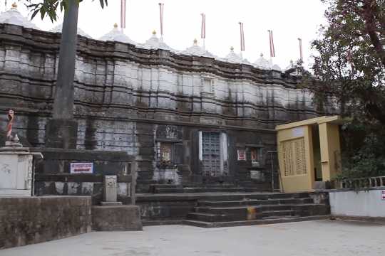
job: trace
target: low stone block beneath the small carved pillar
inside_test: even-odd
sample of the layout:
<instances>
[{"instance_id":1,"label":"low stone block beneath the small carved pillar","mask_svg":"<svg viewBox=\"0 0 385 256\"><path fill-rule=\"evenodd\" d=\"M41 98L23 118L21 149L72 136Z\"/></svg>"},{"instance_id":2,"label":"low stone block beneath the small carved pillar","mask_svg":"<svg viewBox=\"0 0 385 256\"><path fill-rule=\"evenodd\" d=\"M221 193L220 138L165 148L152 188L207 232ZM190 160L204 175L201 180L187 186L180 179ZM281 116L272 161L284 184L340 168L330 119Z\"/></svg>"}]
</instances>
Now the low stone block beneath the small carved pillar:
<instances>
[{"instance_id":1,"label":"low stone block beneath the small carved pillar","mask_svg":"<svg viewBox=\"0 0 385 256\"><path fill-rule=\"evenodd\" d=\"M96 231L143 230L138 206L93 206L92 228Z\"/></svg>"}]
</instances>

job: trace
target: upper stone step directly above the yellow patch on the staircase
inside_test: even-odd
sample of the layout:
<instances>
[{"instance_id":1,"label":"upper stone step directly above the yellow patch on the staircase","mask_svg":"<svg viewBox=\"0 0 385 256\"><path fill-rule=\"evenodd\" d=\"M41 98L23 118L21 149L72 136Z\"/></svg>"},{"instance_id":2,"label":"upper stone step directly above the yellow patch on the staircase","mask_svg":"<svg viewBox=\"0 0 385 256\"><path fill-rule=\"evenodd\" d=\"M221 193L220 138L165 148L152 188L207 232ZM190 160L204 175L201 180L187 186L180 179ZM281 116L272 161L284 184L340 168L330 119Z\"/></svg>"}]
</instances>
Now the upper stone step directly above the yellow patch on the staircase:
<instances>
[{"instance_id":1,"label":"upper stone step directly above the yellow patch on the staircase","mask_svg":"<svg viewBox=\"0 0 385 256\"><path fill-rule=\"evenodd\" d=\"M303 204L313 203L312 198L279 198L267 200L241 200L241 201L198 201L198 206L224 207L224 206L257 206L257 205L282 205L282 204Z\"/></svg>"}]
</instances>

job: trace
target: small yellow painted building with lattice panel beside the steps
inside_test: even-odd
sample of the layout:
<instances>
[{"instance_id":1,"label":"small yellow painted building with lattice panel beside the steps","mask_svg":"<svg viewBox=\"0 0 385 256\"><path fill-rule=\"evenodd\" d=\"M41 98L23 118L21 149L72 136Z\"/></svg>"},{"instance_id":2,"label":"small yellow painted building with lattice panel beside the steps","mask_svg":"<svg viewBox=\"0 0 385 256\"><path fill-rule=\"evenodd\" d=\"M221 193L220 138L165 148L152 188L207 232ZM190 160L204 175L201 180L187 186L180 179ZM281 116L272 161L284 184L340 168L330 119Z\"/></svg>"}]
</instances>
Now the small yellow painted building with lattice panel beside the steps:
<instances>
[{"instance_id":1,"label":"small yellow painted building with lattice panel beside the steps","mask_svg":"<svg viewBox=\"0 0 385 256\"><path fill-rule=\"evenodd\" d=\"M313 191L316 181L330 181L341 170L342 122L317 117L275 128L282 191Z\"/></svg>"}]
</instances>

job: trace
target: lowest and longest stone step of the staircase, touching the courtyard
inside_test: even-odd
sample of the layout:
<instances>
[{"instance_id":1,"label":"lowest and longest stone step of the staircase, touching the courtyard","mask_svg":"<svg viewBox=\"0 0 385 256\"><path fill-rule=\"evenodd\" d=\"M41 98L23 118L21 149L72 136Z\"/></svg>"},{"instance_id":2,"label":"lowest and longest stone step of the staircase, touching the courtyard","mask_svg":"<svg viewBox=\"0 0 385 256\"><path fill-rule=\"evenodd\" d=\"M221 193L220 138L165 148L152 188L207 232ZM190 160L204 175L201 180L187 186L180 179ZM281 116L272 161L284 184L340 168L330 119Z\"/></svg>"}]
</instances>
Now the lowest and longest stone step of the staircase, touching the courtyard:
<instances>
[{"instance_id":1,"label":"lowest and longest stone step of the staircase, touching the courtyard","mask_svg":"<svg viewBox=\"0 0 385 256\"><path fill-rule=\"evenodd\" d=\"M267 225L267 224L275 224L275 223L290 223L297 221L307 221L307 220L324 220L330 218L330 215L314 215L308 217L297 217L290 216L281 218L271 218L271 219L262 219L262 220L239 220L239 221L223 221L217 223L210 223L200 220L183 220L183 224L185 225L193 225L200 228L222 228L222 227L235 227L242 225Z\"/></svg>"}]
</instances>

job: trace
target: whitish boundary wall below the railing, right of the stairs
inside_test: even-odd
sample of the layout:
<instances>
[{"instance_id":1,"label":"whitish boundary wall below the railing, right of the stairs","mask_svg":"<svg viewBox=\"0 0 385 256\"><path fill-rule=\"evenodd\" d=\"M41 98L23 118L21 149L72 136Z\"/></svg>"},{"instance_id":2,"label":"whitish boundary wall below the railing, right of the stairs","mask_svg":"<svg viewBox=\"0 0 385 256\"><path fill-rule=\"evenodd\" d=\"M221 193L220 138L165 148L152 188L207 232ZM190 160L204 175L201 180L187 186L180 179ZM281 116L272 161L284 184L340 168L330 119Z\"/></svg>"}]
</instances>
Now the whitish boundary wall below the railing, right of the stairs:
<instances>
[{"instance_id":1,"label":"whitish boundary wall below the railing, right of the stairs","mask_svg":"<svg viewBox=\"0 0 385 256\"><path fill-rule=\"evenodd\" d=\"M372 188L369 191L329 191L332 215L368 218L385 218L385 200L381 193L384 188Z\"/></svg>"}]
</instances>

